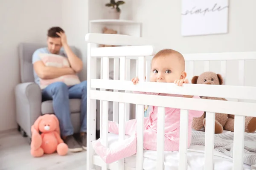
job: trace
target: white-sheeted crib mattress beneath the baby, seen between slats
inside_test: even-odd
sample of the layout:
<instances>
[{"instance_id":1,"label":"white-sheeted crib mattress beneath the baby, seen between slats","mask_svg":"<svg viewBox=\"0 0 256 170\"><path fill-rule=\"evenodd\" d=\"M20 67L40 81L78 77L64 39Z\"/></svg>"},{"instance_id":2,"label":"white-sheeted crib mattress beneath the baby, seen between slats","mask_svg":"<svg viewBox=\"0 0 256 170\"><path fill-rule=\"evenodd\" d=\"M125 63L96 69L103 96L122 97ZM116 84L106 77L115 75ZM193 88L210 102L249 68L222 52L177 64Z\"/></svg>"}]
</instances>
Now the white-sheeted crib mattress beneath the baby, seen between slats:
<instances>
[{"instance_id":1,"label":"white-sheeted crib mattress beneath the baby, seen between slats","mask_svg":"<svg viewBox=\"0 0 256 170\"><path fill-rule=\"evenodd\" d=\"M128 136L125 136L126 138ZM118 135L108 133L109 147L118 142ZM156 170L157 151L144 150L143 170ZM224 153L214 150L214 169L215 170L232 170L233 159ZM165 170L178 170L179 164L178 152L164 152ZM204 146L191 145L187 152L188 168L187 170L204 170ZM125 166L130 170L136 168L136 155L125 158ZM250 165L244 164L244 170L251 170Z\"/></svg>"}]
</instances>

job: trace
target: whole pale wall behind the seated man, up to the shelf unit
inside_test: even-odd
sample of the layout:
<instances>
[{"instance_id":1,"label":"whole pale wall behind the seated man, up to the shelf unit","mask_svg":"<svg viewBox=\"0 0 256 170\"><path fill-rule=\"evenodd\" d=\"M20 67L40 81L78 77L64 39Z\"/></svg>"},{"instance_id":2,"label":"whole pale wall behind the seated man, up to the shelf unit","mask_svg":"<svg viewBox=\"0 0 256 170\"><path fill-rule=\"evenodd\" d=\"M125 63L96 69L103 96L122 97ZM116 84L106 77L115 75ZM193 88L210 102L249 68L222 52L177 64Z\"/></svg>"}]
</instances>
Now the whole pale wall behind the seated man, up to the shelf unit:
<instances>
[{"instance_id":1,"label":"whole pale wall behind the seated man, up to the shelf unit","mask_svg":"<svg viewBox=\"0 0 256 170\"><path fill-rule=\"evenodd\" d=\"M46 43L47 29L61 26L75 45L87 74L88 0L0 0L0 131L16 128L14 88L20 82L17 45Z\"/></svg>"}]
</instances>

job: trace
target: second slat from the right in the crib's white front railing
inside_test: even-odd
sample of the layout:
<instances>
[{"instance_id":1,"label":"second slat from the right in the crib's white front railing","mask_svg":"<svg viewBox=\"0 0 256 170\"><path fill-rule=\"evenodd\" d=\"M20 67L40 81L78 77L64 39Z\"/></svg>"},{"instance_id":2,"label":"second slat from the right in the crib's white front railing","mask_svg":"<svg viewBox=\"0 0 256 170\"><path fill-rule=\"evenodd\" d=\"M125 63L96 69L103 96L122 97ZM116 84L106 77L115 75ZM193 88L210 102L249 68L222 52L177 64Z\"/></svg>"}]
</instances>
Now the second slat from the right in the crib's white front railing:
<instances>
[{"instance_id":1,"label":"second slat from the right in the crib's white front railing","mask_svg":"<svg viewBox=\"0 0 256 170\"><path fill-rule=\"evenodd\" d=\"M215 113L206 112L205 124L206 126L205 126L204 170L214 170L213 150L214 150Z\"/></svg>"}]
</instances>

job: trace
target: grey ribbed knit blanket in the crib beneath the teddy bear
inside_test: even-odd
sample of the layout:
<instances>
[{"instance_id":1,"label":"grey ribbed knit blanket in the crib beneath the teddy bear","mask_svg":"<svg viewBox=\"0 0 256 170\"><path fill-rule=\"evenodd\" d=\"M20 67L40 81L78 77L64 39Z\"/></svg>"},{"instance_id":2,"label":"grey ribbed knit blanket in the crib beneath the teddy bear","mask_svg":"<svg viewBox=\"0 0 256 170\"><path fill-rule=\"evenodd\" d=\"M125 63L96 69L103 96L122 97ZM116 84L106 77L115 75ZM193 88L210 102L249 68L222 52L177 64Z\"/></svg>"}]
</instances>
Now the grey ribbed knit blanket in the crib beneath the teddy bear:
<instances>
[{"instance_id":1,"label":"grey ribbed knit blanket in the crib beneath the teddy bear","mask_svg":"<svg viewBox=\"0 0 256 170\"><path fill-rule=\"evenodd\" d=\"M205 145L205 132L192 131L192 142L194 145ZM234 133L221 133L214 136L214 149L233 158ZM256 134L244 133L244 163L256 164Z\"/></svg>"}]
</instances>

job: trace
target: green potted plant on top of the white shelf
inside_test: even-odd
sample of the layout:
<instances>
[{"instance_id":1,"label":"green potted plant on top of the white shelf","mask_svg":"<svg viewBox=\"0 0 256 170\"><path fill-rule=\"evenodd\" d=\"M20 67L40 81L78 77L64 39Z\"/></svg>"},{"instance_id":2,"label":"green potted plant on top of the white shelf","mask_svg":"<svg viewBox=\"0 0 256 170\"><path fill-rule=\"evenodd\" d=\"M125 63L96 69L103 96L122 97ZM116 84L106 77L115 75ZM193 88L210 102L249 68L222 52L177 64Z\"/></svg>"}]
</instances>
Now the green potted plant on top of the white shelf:
<instances>
[{"instance_id":1,"label":"green potted plant on top of the white shelf","mask_svg":"<svg viewBox=\"0 0 256 170\"><path fill-rule=\"evenodd\" d=\"M125 2L122 0L119 0L115 2L115 0L110 0L110 3L105 4L105 6L111 7L108 11L108 19L115 19L118 20L120 18L121 9L119 8L119 5L124 4Z\"/></svg>"}]
</instances>

